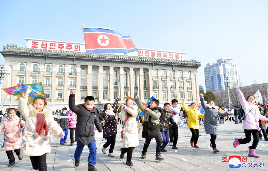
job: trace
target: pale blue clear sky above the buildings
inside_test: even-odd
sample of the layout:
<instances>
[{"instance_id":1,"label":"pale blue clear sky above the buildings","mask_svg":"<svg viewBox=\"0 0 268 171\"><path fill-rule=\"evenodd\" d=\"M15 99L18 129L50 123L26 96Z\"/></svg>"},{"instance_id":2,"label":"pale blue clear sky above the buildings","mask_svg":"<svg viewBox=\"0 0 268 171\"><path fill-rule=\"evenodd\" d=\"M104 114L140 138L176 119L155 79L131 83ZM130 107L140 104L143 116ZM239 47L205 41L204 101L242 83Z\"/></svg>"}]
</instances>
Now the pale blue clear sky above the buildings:
<instances>
[{"instance_id":1,"label":"pale blue clear sky above the buildings","mask_svg":"<svg viewBox=\"0 0 268 171\"><path fill-rule=\"evenodd\" d=\"M0 46L27 47L25 38L84 43L83 23L130 35L137 48L186 52L201 62L204 87L206 64L232 58L246 86L268 82L267 9L267 0L1 1Z\"/></svg>"}]
</instances>

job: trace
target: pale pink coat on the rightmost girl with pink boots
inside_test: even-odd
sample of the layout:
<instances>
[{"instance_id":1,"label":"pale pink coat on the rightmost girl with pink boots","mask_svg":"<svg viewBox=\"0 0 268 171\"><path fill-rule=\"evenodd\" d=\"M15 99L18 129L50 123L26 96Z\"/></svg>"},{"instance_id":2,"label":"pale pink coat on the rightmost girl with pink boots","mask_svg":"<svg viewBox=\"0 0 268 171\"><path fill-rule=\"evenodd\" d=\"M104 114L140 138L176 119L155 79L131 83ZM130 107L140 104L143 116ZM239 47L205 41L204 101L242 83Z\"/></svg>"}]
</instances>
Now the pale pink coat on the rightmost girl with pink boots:
<instances>
[{"instance_id":1,"label":"pale pink coat on the rightmost girl with pink boots","mask_svg":"<svg viewBox=\"0 0 268 171\"><path fill-rule=\"evenodd\" d=\"M265 121L266 117L260 114L260 110L258 106L246 101L243 93L239 94L238 98L245 112L245 118L243 120L242 128L243 129L257 129L259 131L260 127L259 127L258 121L259 119Z\"/></svg>"}]
</instances>

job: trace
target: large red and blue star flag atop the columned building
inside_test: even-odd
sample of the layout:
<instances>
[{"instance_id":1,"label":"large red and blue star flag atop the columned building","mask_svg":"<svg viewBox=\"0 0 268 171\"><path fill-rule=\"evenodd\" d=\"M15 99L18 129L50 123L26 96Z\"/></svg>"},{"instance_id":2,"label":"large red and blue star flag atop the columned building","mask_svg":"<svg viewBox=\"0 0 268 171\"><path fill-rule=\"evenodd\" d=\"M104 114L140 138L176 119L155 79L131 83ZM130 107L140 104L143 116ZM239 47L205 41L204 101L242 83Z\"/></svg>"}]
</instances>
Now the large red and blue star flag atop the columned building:
<instances>
[{"instance_id":1,"label":"large red and blue star flag atop the columned building","mask_svg":"<svg viewBox=\"0 0 268 171\"><path fill-rule=\"evenodd\" d=\"M130 36L106 28L85 28L83 25L86 52L129 53L138 51Z\"/></svg>"}]
</instances>

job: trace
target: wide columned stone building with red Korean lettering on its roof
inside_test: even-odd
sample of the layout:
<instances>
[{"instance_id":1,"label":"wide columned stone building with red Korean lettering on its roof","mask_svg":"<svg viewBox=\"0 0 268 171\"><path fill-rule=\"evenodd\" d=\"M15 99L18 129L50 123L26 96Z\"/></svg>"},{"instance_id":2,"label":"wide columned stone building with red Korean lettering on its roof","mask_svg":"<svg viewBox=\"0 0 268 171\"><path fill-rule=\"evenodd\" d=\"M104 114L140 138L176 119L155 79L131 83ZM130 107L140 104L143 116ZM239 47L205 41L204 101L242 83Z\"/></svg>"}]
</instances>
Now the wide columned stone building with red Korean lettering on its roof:
<instances>
[{"instance_id":1,"label":"wide columned stone building with red Korean lettering on its roof","mask_svg":"<svg viewBox=\"0 0 268 171\"><path fill-rule=\"evenodd\" d=\"M95 106L113 103L124 94L138 94L145 102L154 96L162 105L173 98L180 103L183 98L200 99L197 68L201 64L186 60L186 53L139 49L126 55L96 54L85 52L84 43L26 40L27 48L4 46L1 51L10 72L3 87L42 82L54 110L68 107L72 89L77 103L92 95ZM8 96L3 109L17 105L18 98Z\"/></svg>"}]
</instances>

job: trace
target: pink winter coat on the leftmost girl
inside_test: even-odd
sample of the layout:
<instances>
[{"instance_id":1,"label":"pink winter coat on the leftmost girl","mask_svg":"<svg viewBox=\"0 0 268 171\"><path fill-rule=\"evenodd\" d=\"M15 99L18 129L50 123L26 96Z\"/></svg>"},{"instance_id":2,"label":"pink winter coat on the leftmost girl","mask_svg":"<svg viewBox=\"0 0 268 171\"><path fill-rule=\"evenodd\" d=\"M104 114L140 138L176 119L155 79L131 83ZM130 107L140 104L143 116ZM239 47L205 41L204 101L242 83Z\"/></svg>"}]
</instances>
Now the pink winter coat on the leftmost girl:
<instances>
[{"instance_id":1,"label":"pink winter coat on the leftmost girl","mask_svg":"<svg viewBox=\"0 0 268 171\"><path fill-rule=\"evenodd\" d=\"M24 127L25 122L21 120L20 126L18 127L19 121L20 118L18 116L15 116L12 119L10 119L7 116L3 124L0 125L0 132L5 130L4 150L6 151L21 148L21 137L22 137L21 126Z\"/></svg>"}]
</instances>

